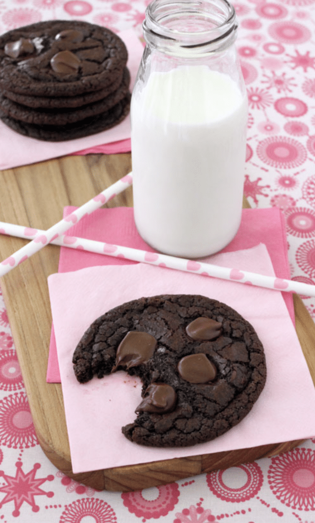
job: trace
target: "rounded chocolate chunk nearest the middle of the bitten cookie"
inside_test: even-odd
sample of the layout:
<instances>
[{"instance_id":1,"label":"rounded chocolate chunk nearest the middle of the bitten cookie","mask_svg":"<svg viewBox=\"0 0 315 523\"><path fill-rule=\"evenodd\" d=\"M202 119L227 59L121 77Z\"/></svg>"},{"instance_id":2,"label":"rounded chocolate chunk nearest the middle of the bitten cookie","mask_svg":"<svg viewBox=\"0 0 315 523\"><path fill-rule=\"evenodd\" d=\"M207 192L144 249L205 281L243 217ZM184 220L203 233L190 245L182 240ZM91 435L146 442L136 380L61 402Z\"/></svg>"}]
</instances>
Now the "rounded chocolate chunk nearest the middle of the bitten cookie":
<instances>
[{"instance_id":1,"label":"rounded chocolate chunk nearest the middle of the bitten cookie","mask_svg":"<svg viewBox=\"0 0 315 523\"><path fill-rule=\"evenodd\" d=\"M190 354L178 362L178 372L189 383L207 383L213 381L217 370L205 354Z\"/></svg>"}]
</instances>

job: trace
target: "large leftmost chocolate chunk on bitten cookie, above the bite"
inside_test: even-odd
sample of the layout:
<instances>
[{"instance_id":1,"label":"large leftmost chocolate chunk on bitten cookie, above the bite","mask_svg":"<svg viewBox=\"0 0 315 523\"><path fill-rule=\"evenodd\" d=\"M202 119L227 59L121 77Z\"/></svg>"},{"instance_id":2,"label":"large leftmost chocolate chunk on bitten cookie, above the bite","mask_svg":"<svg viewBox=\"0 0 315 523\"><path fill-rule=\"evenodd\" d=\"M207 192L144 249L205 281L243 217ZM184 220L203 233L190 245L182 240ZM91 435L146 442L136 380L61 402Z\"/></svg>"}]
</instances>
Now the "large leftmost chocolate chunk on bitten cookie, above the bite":
<instances>
[{"instance_id":1,"label":"large leftmost chocolate chunk on bitten cookie, above the bite","mask_svg":"<svg viewBox=\"0 0 315 523\"><path fill-rule=\"evenodd\" d=\"M119 366L130 369L130 367L136 367L140 363L148 361L153 356L156 346L156 339L146 332L127 333L118 346L112 372Z\"/></svg>"}]
</instances>

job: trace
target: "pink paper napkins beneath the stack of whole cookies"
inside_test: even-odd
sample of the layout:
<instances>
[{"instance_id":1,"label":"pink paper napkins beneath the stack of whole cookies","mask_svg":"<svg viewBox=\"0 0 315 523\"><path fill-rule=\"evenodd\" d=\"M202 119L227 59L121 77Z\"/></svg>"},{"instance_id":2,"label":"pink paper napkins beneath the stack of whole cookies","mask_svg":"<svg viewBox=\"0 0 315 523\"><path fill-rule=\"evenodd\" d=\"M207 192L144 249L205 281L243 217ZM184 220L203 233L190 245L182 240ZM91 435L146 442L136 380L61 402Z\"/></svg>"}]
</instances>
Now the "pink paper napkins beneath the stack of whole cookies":
<instances>
[{"instance_id":1,"label":"pink paper napkins beneath the stack of whole cookies","mask_svg":"<svg viewBox=\"0 0 315 523\"><path fill-rule=\"evenodd\" d=\"M129 58L127 67L131 74L133 88L139 64L143 54L143 44L132 29L119 33L125 42ZM89 152L120 153L130 151L130 117L125 118L118 126L66 142L45 142L28 138L8 128L0 120L0 169L9 169L27 165L67 154L87 154Z\"/></svg>"}]
</instances>

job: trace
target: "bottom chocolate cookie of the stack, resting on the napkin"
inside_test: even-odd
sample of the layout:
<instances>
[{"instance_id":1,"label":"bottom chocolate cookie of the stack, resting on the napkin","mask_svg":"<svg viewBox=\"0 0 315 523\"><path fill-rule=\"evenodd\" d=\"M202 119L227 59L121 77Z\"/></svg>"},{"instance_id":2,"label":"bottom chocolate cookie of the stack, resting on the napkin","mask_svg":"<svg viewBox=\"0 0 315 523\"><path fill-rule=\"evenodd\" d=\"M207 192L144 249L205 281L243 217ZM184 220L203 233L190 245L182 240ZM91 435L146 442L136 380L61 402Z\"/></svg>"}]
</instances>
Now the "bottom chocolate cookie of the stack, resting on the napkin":
<instances>
[{"instance_id":1,"label":"bottom chocolate cookie of the stack, resting on the napkin","mask_svg":"<svg viewBox=\"0 0 315 523\"><path fill-rule=\"evenodd\" d=\"M128 115L130 111L130 98L130 94L127 94L125 98L108 111L63 126L43 126L15 120L14 118L6 116L1 108L0 118L14 131L30 138L50 142L61 142L74 140L75 138L83 138L116 126Z\"/></svg>"}]
</instances>

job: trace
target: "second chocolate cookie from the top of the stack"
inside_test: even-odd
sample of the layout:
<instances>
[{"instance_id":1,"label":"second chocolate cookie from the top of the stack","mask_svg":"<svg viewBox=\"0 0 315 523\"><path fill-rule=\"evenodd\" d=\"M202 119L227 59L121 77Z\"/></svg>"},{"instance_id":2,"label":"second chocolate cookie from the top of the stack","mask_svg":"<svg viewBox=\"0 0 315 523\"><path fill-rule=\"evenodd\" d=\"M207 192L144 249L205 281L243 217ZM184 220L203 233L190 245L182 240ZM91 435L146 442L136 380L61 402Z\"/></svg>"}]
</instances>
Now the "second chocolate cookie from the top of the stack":
<instances>
[{"instance_id":1,"label":"second chocolate cookie from the top of the stack","mask_svg":"<svg viewBox=\"0 0 315 523\"><path fill-rule=\"evenodd\" d=\"M108 97L121 86L123 79L124 82L126 82L126 75L128 75L128 77L130 78L130 73L127 67L125 67L121 75L118 76L115 79L115 81L105 89L99 89L92 93L84 93L82 95L77 96L58 96L56 98L51 96L27 96L20 95L19 93L14 93L13 91L7 90L3 90L2 94L9 100L13 100L18 104L21 104L26 107L31 107L32 109L71 109L91 104L95 101L102 100L103 98ZM130 80L128 82L130 83Z\"/></svg>"}]
</instances>

